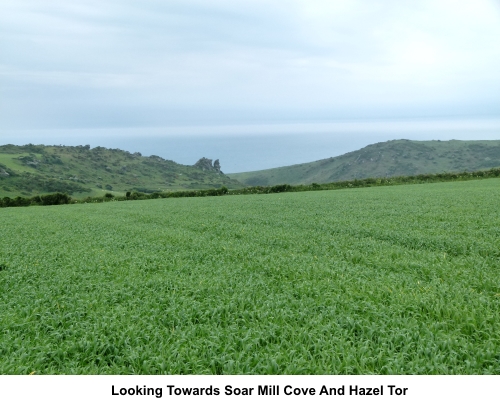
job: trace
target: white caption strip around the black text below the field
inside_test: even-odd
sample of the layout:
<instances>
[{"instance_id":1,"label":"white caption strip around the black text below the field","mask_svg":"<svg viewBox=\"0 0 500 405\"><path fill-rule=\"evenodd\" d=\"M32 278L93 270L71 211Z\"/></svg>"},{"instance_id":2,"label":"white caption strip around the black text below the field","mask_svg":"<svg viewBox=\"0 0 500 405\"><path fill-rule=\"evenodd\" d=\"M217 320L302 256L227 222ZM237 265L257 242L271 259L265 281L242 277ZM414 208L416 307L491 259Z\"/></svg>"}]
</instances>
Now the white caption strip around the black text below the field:
<instances>
[{"instance_id":1,"label":"white caption strip around the black text below the field","mask_svg":"<svg viewBox=\"0 0 500 405\"><path fill-rule=\"evenodd\" d=\"M499 401L500 376L0 376L2 404L446 404ZM169 395L176 388L219 389L219 395ZM279 395L258 395L259 385L280 387ZM319 395L322 386L340 388L344 395ZM379 388L383 395L349 395L351 386ZM390 385L407 388L390 395ZM161 388L155 395L112 395L112 389ZM251 395L227 395L226 386L253 388ZM285 395L286 386L308 394ZM311 389L315 390L311 395ZM288 388L290 391L290 388ZM158 391L156 391L158 393Z\"/></svg>"}]
</instances>

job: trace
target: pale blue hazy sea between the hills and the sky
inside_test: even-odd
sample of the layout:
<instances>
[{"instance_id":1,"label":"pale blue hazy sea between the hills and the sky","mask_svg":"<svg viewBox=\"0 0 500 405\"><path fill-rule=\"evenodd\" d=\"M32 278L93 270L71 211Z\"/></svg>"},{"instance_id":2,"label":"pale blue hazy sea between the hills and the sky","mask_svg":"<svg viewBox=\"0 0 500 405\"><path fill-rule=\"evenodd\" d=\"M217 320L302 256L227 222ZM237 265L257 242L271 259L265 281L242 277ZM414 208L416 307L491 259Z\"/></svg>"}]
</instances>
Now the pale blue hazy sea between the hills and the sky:
<instances>
[{"instance_id":1,"label":"pale blue hazy sea between the hills and the sky","mask_svg":"<svg viewBox=\"0 0 500 405\"><path fill-rule=\"evenodd\" d=\"M500 118L0 131L0 144L90 144L187 165L220 159L225 173L315 161L393 139L500 139Z\"/></svg>"}]
</instances>

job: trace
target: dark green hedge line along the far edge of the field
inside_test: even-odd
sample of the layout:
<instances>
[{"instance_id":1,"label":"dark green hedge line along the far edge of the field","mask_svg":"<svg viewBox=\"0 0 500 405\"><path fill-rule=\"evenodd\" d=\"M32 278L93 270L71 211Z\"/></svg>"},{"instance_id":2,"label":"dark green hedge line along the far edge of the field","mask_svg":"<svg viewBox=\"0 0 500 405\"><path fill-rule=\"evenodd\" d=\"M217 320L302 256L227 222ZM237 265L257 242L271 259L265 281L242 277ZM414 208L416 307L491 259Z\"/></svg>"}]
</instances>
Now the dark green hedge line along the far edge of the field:
<instances>
[{"instance_id":1,"label":"dark green hedge line along the far edge of the field","mask_svg":"<svg viewBox=\"0 0 500 405\"><path fill-rule=\"evenodd\" d=\"M414 176L379 177L360 180L354 179L337 181L333 183L312 183L310 185L298 186L292 186L290 184L279 184L276 186L251 186L236 190L229 190L227 187L223 186L218 189L166 191L154 192L150 194L139 191L127 191L125 196L114 196L111 193L106 193L103 197L86 197L84 199L78 200L73 199L64 193L55 193L38 195L35 197L4 197L3 199L0 199L0 207L26 207L30 205L81 204L108 201L151 200L156 198L213 197L222 195L274 194L300 191L340 190L346 188L465 181L493 177L500 177L500 168L479 170L475 172L418 174Z\"/></svg>"}]
</instances>

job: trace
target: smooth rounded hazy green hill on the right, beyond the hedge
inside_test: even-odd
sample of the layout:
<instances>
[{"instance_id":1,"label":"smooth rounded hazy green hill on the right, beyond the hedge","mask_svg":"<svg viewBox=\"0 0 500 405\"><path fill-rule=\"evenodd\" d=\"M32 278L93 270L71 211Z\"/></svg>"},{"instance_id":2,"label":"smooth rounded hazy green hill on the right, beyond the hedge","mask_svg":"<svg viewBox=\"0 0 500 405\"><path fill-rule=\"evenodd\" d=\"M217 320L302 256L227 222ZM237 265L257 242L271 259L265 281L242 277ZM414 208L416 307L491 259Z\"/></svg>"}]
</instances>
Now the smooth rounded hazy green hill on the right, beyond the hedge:
<instances>
[{"instance_id":1,"label":"smooth rounded hazy green hill on the right, beyond the hedge","mask_svg":"<svg viewBox=\"0 0 500 405\"><path fill-rule=\"evenodd\" d=\"M330 183L369 177L474 171L500 167L500 140L409 141L368 145L354 152L276 169L228 174L250 186Z\"/></svg>"}]
</instances>

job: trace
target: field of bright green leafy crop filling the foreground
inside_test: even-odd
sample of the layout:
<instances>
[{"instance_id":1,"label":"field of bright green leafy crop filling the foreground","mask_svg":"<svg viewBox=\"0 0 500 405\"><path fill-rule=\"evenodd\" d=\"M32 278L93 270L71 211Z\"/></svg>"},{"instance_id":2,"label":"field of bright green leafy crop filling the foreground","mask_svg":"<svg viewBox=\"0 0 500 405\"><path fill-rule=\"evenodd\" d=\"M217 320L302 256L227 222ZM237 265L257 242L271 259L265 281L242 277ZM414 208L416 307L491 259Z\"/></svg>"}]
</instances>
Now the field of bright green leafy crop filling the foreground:
<instances>
[{"instance_id":1,"label":"field of bright green leafy crop filling the foreground","mask_svg":"<svg viewBox=\"0 0 500 405\"><path fill-rule=\"evenodd\" d=\"M0 210L2 374L500 374L500 180Z\"/></svg>"}]
</instances>

